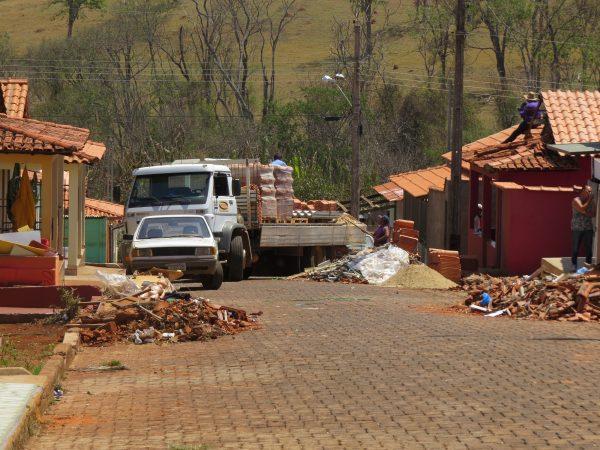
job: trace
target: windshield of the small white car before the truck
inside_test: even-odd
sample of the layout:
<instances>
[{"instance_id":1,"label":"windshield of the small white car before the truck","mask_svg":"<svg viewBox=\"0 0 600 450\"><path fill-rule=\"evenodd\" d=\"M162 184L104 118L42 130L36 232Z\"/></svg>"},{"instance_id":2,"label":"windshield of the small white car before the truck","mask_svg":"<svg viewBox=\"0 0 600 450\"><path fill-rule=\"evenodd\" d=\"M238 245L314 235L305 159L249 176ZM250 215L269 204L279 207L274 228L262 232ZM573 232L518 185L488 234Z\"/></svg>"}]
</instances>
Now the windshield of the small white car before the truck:
<instances>
[{"instance_id":1,"label":"windshield of the small white car before the truck","mask_svg":"<svg viewBox=\"0 0 600 450\"><path fill-rule=\"evenodd\" d=\"M148 217L137 231L138 239L173 237L210 237L206 221L201 217Z\"/></svg>"}]
</instances>

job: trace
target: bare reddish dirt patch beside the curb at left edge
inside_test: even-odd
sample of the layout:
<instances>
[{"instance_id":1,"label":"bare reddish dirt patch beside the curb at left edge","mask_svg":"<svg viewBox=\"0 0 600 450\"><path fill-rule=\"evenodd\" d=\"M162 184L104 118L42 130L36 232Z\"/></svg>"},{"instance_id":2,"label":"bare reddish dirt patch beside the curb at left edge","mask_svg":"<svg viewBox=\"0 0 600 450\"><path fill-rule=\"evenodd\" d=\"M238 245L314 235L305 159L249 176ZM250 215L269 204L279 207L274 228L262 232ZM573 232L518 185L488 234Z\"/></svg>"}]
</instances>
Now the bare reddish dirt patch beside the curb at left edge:
<instances>
[{"instance_id":1,"label":"bare reddish dirt patch beside the curb at left edge","mask_svg":"<svg viewBox=\"0 0 600 450\"><path fill-rule=\"evenodd\" d=\"M0 324L0 367L25 367L37 375L63 335L61 325Z\"/></svg>"}]
</instances>

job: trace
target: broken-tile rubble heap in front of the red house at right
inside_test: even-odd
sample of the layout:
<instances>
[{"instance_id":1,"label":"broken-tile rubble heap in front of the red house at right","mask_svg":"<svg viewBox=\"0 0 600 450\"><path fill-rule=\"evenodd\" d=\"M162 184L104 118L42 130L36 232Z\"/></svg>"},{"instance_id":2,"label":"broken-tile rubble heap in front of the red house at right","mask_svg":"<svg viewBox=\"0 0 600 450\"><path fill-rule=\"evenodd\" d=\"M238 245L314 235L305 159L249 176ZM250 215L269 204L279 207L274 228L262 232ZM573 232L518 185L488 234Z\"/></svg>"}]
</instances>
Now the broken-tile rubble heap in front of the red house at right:
<instances>
[{"instance_id":1,"label":"broken-tile rubble heap in front of the red house at right","mask_svg":"<svg viewBox=\"0 0 600 450\"><path fill-rule=\"evenodd\" d=\"M490 317L600 321L600 271L558 278L471 275L462 280L471 311Z\"/></svg>"}]
</instances>

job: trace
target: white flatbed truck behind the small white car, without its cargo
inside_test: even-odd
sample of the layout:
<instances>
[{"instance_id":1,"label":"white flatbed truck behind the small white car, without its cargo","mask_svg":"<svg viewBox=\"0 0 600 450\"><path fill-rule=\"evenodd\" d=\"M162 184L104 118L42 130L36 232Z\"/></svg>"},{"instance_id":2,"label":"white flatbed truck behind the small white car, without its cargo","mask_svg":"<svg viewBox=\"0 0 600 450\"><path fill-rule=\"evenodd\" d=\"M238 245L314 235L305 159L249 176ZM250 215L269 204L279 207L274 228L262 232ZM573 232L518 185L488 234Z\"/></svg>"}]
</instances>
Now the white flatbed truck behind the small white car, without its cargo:
<instances>
[{"instance_id":1,"label":"white flatbed truck behind the small white car, without its cargo","mask_svg":"<svg viewBox=\"0 0 600 450\"><path fill-rule=\"evenodd\" d=\"M364 241L363 231L353 224L262 223L256 214L259 194L247 187L243 193L240 180L224 164L175 162L142 167L133 176L125 205L126 267L131 236L141 219L150 215L204 216L218 241L229 281L249 277L260 259L274 258L272 264L277 266L283 264L282 258L295 257L298 270L303 270Z\"/></svg>"}]
</instances>

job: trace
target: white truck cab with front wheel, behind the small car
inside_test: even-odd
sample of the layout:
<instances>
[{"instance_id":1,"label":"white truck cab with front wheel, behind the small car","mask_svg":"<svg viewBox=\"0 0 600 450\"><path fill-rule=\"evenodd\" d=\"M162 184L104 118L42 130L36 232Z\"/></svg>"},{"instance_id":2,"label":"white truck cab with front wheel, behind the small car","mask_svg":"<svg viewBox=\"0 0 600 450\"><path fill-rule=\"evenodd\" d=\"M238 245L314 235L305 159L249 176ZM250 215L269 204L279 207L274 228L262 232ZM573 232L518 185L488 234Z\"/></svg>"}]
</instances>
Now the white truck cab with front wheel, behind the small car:
<instances>
[{"instance_id":1,"label":"white truck cab with front wheel, behind the small car","mask_svg":"<svg viewBox=\"0 0 600 450\"><path fill-rule=\"evenodd\" d=\"M227 166L173 163L133 172L125 205L126 236L132 236L147 216L191 214L206 219L219 245L219 259L231 281L240 281L252 264L250 239L238 219L239 180ZM124 255L128 255L128 242Z\"/></svg>"}]
</instances>

